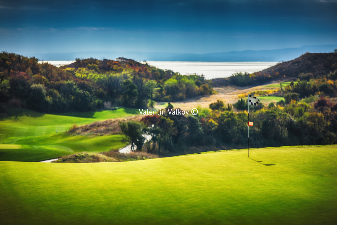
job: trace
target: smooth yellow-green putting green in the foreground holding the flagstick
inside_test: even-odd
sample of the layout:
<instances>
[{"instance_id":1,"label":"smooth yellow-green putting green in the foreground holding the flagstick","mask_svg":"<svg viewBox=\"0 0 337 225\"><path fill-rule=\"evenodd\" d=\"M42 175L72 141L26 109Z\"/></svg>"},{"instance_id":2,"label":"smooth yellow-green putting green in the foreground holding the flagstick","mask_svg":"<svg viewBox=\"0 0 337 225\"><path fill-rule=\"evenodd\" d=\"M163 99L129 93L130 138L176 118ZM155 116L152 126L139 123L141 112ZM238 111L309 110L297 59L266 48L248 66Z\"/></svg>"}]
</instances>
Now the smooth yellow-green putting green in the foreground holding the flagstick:
<instances>
[{"instance_id":1,"label":"smooth yellow-green putting green in the foreground holding the flagstick","mask_svg":"<svg viewBox=\"0 0 337 225\"><path fill-rule=\"evenodd\" d=\"M16 147L16 146L12 146ZM3 224L334 224L337 146L0 162Z\"/></svg>"}]
</instances>

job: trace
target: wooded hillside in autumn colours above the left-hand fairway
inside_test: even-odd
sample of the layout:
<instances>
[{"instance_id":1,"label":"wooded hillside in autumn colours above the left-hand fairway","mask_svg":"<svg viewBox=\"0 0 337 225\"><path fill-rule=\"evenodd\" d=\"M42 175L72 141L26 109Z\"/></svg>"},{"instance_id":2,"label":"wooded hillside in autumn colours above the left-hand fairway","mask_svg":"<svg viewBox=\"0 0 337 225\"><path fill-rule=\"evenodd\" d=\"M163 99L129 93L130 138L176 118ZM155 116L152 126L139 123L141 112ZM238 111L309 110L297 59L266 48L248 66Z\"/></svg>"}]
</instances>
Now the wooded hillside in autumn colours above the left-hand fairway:
<instances>
[{"instance_id":1,"label":"wooded hillside in autumn colours above the left-hand fairway","mask_svg":"<svg viewBox=\"0 0 337 225\"><path fill-rule=\"evenodd\" d=\"M40 112L85 112L114 106L152 107L212 94L203 76L183 76L131 59L76 59L55 67L14 53L0 53L0 102Z\"/></svg>"}]
</instances>

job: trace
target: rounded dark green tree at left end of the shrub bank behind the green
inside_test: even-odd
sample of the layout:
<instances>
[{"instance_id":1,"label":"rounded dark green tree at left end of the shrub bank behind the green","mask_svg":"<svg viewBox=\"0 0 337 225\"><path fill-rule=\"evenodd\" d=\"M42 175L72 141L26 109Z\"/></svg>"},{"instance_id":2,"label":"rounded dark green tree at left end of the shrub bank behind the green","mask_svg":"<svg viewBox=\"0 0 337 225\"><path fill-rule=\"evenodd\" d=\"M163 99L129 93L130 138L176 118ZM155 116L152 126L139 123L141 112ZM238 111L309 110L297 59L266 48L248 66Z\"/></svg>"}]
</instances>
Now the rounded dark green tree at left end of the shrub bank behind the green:
<instances>
[{"instance_id":1,"label":"rounded dark green tree at left end of the shrub bank behind the green","mask_svg":"<svg viewBox=\"0 0 337 225\"><path fill-rule=\"evenodd\" d=\"M136 146L137 151L142 150L145 138L143 137L144 124L141 122L128 120L127 122L119 121L119 127L122 133L125 135L123 142L131 145L131 151L134 151L134 146Z\"/></svg>"}]
</instances>

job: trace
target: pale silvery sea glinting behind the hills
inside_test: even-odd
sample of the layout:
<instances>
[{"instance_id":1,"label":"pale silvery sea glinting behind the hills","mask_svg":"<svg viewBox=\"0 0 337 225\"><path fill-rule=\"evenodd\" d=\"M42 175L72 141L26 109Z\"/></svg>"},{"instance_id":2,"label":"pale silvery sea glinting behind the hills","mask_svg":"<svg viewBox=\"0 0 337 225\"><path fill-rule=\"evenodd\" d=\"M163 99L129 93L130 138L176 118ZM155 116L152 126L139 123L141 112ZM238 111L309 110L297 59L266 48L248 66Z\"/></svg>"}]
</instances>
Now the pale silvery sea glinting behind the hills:
<instances>
[{"instance_id":1,"label":"pale silvery sea glinting behind the hills","mask_svg":"<svg viewBox=\"0 0 337 225\"><path fill-rule=\"evenodd\" d=\"M42 61L39 61L41 63ZM55 66L68 65L74 61L43 61ZM204 75L205 79L230 77L237 72L254 73L276 65L278 62L182 62L182 61L146 61L160 69L170 69L182 75ZM142 63L145 63L142 61Z\"/></svg>"}]
</instances>

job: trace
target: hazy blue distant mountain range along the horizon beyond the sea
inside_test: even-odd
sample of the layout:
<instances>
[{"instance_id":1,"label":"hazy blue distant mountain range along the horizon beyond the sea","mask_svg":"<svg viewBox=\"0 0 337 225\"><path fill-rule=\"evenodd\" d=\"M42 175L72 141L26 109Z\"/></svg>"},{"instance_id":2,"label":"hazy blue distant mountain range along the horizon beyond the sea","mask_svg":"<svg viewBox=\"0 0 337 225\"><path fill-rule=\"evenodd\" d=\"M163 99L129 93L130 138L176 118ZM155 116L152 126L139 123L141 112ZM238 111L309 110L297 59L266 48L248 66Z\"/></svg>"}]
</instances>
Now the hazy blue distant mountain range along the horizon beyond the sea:
<instances>
[{"instance_id":1,"label":"hazy blue distant mountain range along the horizon beyond the sea","mask_svg":"<svg viewBox=\"0 0 337 225\"><path fill-rule=\"evenodd\" d=\"M246 61L288 61L310 53L328 53L337 49L337 45L311 45L299 48L274 50L246 50L231 52L216 52L207 54L166 53L166 52L68 52L68 53L37 53L39 60L75 60L75 58L116 59L125 57L136 61L204 61L204 62L246 62Z\"/></svg>"}]
</instances>

